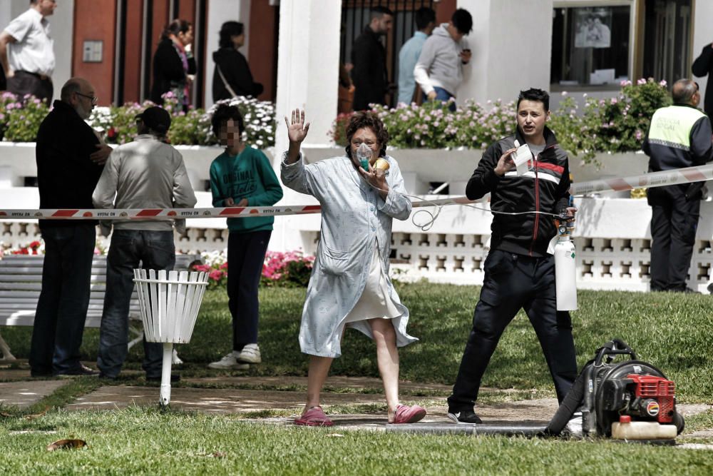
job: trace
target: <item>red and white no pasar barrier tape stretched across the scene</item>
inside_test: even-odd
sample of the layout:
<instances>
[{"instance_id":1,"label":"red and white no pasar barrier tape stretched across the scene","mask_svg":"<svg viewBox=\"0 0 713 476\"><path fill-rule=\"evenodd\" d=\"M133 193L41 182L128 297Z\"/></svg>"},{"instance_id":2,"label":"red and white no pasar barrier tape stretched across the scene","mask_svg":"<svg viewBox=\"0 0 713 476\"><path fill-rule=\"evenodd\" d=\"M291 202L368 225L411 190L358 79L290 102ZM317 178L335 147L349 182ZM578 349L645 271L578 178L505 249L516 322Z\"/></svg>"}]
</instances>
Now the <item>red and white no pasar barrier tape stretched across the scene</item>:
<instances>
[{"instance_id":1,"label":"red and white no pasar barrier tape stretched across the scene","mask_svg":"<svg viewBox=\"0 0 713 476\"><path fill-rule=\"evenodd\" d=\"M595 192L627 191L633 188L651 188L679 183L713 180L713 164L670 171L645 173L623 178L602 178L588 182L573 183L570 194L583 196ZM474 203L466 197L414 201L414 208L427 206L465 205ZM319 213L319 205L257 206L222 208L128 208L128 209L1 209L0 220L169 220L175 218L248 218L255 216L284 216Z\"/></svg>"}]
</instances>

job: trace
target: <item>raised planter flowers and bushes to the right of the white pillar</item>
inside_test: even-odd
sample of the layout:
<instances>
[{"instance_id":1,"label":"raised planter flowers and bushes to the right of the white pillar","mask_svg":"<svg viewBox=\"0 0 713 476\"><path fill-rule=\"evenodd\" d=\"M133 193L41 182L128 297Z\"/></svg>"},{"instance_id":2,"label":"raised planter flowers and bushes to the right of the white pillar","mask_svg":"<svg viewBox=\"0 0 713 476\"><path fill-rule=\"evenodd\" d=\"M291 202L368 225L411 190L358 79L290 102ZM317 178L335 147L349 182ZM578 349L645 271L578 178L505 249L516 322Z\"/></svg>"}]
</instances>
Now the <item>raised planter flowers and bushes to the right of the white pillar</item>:
<instances>
[{"instance_id":1,"label":"raised planter flowers and bushes to the right of the white pillar","mask_svg":"<svg viewBox=\"0 0 713 476\"><path fill-rule=\"evenodd\" d=\"M553 111L549 127L560 145L585 162L594 162L597 152L638 151L654 111L671 103L665 81L623 81L614 98L595 99L583 94L580 108L566 96ZM515 131L515 101L484 104L467 100L455 112L448 103L399 104L396 108L375 105L373 109L389 131L389 146L396 148L486 148ZM344 129L350 114L340 114L332 126L332 140L347 145Z\"/></svg>"}]
</instances>

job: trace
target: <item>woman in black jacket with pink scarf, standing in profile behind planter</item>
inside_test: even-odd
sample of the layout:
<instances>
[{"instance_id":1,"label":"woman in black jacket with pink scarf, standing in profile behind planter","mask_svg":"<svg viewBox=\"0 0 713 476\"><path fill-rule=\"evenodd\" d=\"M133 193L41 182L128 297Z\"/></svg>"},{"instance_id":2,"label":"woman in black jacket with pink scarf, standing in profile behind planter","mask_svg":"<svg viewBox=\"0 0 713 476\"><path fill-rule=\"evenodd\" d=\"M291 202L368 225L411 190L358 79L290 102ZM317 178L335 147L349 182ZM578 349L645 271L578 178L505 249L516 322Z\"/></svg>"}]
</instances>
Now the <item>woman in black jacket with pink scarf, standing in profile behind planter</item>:
<instances>
[{"instance_id":1,"label":"woman in black jacket with pink scarf, standing in profile behind planter","mask_svg":"<svg viewBox=\"0 0 713 476\"><path fill-rule=\"evenodd\" d=\"M195 74L195 59L191 53L193 25L185 20L168 24L153 55L153 86L150 99L159 106L163 94L169 91L178 98L183 111L188 111L190 75Z\"/></svg>"}]
</instances>

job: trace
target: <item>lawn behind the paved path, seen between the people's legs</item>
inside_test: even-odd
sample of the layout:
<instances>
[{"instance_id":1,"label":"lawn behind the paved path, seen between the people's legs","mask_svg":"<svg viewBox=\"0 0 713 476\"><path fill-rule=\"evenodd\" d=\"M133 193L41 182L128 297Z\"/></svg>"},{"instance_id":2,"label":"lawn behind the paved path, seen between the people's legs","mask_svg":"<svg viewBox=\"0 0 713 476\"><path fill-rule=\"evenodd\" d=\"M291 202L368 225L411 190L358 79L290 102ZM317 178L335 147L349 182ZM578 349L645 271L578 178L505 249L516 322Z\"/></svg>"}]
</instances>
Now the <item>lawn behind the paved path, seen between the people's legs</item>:
<instances>
[{"instance_id":1,"label":"lawn behind the paved path, seen between the people's legs","mask_svg":"<svg viewBox=\"0 0 713 476\"><path fill-rule=\"evenodd\" d=\"M401 300L411 310L409 333L421 340L401 349L401 377L415 382L451 384L468 332L479 288L416 283L398 285ZM262 365L247 375L307 375L307 357L299 352L297 334L304 289L264 288L260 291ZM677 384L679 401L713 402L713 298L677 293L580 291L580 310L573 312L575 345L581 368L602 343L621 338ZM29 352L29 328L3 328L18 357ZM188 375L213 375L205 364L230 350L230 314L220 290L206 294L193 339L179 345ZM85 333L83 352L96 358L98 330ZM130 353L128 367L140 368L140 345ZM343 356L332 373L377 377L374 345L348 330ZM529 321L520 313L506 330L483 385L494 388L551 392L552 383Z\"/></svg>"}]
</instances>

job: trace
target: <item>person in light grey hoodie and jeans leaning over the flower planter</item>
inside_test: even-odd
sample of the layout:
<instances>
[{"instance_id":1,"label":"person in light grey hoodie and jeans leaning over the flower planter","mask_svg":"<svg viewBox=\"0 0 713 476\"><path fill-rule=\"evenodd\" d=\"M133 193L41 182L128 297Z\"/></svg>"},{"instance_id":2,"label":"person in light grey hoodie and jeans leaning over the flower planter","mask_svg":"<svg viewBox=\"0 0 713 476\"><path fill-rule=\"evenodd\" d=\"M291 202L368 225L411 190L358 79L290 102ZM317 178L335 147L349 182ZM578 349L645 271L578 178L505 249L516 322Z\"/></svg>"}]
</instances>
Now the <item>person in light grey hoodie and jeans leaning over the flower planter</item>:
<instances>
[{"instance_id":1,"label":"person in light grey hoodie and jeans leaning over the flower planter","mask_svg":"<svg viewBox=\"0 0 713 476\"><path fill-rule=\"evenodd\" d=\"M451 21L438 26L426 39L414 78L424 91L424 101L448 101L456 97L463 81L463 65L471 61L471 50L463 36L473 31L473 17L467 10L457 9ZM448 105L456 110L453 101Z\"/></svg>"}]
</instances>

